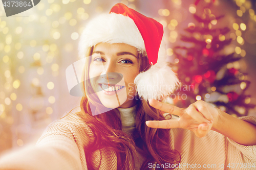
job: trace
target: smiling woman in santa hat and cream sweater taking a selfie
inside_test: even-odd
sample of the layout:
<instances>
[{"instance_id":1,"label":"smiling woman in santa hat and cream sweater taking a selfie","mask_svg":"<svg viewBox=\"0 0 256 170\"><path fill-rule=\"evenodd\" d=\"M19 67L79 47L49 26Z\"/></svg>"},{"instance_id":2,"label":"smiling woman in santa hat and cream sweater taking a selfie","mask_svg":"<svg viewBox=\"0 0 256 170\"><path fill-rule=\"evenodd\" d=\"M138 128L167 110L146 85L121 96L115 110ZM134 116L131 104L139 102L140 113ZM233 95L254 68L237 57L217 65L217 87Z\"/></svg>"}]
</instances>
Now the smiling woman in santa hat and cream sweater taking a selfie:
<instances>
[{"instance_id":1,"label":"smiling woman in santa hat and cream sweater taking a selfie","mask_svg":"<svg viewBox=\"0 0 256 170\"><path fill-rule=\"evenodd\" d=\"M123 4L90 22L79 44L81 111L49 125L35 148L2 158L0 169L254 169L255 117L203 101L186 109L158 101L179 85L156 64L162 33Z\"/></svg>"}]
</instances>

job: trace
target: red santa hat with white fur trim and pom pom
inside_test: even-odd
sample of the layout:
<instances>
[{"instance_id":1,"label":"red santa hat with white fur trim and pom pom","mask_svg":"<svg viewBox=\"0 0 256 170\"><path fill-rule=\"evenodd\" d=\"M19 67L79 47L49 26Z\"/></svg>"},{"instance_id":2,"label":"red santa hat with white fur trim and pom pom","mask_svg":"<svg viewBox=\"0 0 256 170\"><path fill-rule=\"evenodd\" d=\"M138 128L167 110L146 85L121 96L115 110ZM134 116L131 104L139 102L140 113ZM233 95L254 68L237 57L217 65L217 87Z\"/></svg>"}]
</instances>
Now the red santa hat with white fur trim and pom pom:
<instances>
[{"instance_id":1,"label":"red santa hat with white fur trim and pom pom","mask_svg":"<svg viewBox=\"0 0 256 170\"><path fill-rule=\"evenodd\" d=\"M160 100L180 85L168 64L157 62L162 37L161 23L118 3L109 14L100 15L88 23L80 37L79 57L85 57L88 48L100 42L125 43L136 47L152 65L135 78L136 90L144 100Z\"/></svg>"}]
</instances>

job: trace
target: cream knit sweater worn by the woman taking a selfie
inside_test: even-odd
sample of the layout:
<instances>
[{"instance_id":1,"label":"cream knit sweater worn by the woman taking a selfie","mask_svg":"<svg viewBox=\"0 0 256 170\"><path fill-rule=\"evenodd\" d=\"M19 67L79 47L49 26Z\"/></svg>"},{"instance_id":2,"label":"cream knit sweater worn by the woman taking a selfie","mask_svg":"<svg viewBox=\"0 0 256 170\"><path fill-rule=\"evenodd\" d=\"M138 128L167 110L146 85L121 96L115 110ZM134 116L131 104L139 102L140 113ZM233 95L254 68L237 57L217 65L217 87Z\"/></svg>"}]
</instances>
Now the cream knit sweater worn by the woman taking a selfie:
<instances>
[{"instance_id":1,"label":"cream knit sweater worn by the woman taking a selfie","mask_svg":"<svg viewBox=\"0 0 256 170\"><path fill-rule=\"evenodd\" d=\"M122 115L131 112L132 109L119 111ZM256 117L244 116L240 119L256 125ZM256 169L256 145L238 144L215 131L198 138L189 130L177 128L171 129L170 135L172 148L181 154L181 163L177 169ZM4 155L0 159L0 169L87 169L84 146L92 140L93 133L90 128L75 113L69 113L66 117L51 123L35 147ZM139 158L143 159L143 156L140 155ZM117 169L115 153L108 148L98 150L93 153L93 164L96 169ZM251 168L248 168L249 164ZM154 169L153 164L148 166ZM162 165L164 166L168 165Z\"/></svg>"}]
</instances>

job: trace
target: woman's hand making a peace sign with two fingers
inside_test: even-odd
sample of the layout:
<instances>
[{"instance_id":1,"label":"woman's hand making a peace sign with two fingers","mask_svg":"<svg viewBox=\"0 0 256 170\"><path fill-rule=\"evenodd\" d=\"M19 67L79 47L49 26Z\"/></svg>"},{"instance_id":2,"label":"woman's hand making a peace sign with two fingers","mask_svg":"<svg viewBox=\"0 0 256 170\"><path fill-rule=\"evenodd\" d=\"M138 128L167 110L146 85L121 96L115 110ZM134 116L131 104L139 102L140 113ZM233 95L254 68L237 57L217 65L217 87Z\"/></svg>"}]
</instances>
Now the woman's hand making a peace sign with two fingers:
<instances>
[{"instance_id":1,"label":"woman's hand making a peace sign with two fingers","mask_svg":"<svg viewBox=\"0 0 256 170\"><path fill-rule=\"evenodd\" d=\"M149 104L161 111L179 116L178 119L150 120L146 125L151 128L182 128L193 131L196 136L204 137L219 119L219 109L204 101L197 101L182 109L170 104L165 104L154 99L149 100Z\"/></svg>"}]
</instances>

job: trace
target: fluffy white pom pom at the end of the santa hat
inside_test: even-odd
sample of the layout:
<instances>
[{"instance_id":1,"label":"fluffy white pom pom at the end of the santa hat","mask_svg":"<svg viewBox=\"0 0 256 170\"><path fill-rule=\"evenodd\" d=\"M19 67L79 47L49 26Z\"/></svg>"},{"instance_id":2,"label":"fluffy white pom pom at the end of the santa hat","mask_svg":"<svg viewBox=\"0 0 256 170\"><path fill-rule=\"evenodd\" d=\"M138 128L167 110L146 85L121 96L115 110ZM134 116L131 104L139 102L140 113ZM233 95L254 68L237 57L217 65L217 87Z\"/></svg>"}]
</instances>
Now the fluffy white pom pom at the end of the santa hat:
<instances>
[{"instance_id":1,"label":"fluffy white pom pom at the end of the santa hat","mask_svg":"<svg viewBox=\"0 0 256 170\"><path fill-rule=\"evenodd\" d=\"M181 83L175 72L167 63L155 64L135 78L136 90L139 96L148 101L149 99L161 100L173 93Z\"/></svg>"}]
</instances>

